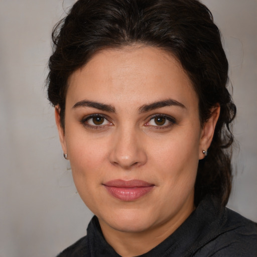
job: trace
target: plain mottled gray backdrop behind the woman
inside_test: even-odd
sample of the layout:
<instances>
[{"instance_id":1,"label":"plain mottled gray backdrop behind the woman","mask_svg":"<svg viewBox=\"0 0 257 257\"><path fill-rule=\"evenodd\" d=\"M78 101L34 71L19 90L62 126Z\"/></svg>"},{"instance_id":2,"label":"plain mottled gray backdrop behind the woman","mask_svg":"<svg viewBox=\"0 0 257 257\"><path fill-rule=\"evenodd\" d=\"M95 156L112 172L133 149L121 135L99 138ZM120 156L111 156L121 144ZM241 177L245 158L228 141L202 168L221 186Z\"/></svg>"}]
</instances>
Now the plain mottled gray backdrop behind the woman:
<instances>
[{"instance_id":1,"label":"plain mottled gray backdrop behind the woman","mask_svg":"<svg viewBox=\"0 0 257 257\"><path fill-rule=\"evenodd\" d=\"M91 212L62 157L44 80L53 25L72 0L0 0L0 257L55 256ZM204 0L224 37L233 98L234 185L228 206L257 221L257 1Z\"/></svg>"}]
</instances>

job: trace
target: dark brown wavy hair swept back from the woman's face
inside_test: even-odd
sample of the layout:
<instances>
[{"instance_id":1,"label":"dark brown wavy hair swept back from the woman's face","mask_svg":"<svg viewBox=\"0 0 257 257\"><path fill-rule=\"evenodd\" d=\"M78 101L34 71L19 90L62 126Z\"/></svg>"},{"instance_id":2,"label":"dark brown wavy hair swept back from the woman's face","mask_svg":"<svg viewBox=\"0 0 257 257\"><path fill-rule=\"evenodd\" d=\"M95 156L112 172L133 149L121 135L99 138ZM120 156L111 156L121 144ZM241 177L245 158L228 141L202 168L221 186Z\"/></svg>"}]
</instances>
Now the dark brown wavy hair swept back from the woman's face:
<instances>
[{"instance_id":1,"label":"dark brown wavy hair swept back from the woman's face","mask_svg":"<svg viewBox=\"0 0 257 257\"><path fill-rule=\"evenodd\" d=\"M133 44L158 47L182 64L199 97L201 124L220 104L220 116L208 155L199 161L195 204L206 195L223 205L231 190L233 142L230 123L236 112L226 88L228 63L219 29L197 0L79 0L52 33L48 97L59 105L64 129L67 80L99 50Z\"/></svg>"}]
</instances>

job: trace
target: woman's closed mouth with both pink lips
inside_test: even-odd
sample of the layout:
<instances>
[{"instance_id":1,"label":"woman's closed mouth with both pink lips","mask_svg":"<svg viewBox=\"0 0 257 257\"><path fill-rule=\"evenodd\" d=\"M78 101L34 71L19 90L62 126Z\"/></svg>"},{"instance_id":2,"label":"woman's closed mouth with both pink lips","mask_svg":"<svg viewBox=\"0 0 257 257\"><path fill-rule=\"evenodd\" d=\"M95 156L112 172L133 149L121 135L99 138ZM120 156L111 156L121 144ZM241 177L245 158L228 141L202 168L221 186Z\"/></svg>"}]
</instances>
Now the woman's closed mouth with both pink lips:
<instances>
[{"instance_id":1,"label":"woman's closed mouth with both pink lips","mask_svg":"<svg viewBox=\"0 0 257 257\"><path fill-rule=\"evenodd\" d=\"M103 184L113 197L121 201L134 201L153 190L153 184L143 180L111 180Z\"/></svg>"}]
</instances>

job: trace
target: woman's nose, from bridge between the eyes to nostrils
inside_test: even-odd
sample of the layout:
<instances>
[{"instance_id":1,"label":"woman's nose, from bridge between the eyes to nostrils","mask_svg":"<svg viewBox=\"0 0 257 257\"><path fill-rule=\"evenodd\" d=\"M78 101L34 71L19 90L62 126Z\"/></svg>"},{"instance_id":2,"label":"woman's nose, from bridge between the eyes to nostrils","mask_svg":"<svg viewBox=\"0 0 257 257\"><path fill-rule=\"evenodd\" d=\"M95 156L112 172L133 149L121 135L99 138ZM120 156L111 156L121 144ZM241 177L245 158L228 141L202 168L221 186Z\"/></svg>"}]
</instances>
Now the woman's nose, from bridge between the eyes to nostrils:
<instances>
[{"instance_id":1,"label":"woman's nose, from bridge between the eyes to nostrils","mask_svg":"<svg viewBox=\"0 0 257 257\"><path fill-rule=\"evenodd\" d=\"M122 169L130 170L147 162L145 145L136 129L117 129L113 135L109 161Z\"/></svg>"}]
</instances>

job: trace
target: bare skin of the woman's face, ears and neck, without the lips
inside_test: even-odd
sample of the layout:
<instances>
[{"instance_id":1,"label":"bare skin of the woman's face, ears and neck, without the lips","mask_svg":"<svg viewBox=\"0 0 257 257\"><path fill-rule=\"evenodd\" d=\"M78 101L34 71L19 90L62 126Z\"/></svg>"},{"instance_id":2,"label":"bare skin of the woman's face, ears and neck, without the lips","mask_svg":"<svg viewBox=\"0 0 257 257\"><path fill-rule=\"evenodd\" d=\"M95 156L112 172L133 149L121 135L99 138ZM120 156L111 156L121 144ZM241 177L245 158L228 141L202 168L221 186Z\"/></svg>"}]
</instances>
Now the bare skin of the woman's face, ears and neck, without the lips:
<instances>
[{"instance_id":1,"label":"bare skin of the woman's face, ears and neck, without the lips","mask_svg":"<svg viewBox=\"0 0 257 257\"><path fill-rule=\"evenodd\" d=\"M167 99L181 105L142 111ZM65 133L58 106L55 113L78 193L118 254L149 251L192 213L198 160L210 146L219 106L201 126L197 94L173 56L147 46L100 51L69 77ZM104 115L98 117L102 123L92 114ZM153 117L160 114L167 116L161 117L164 124ZM103 185L115 179L143 180L154 187L139 199L121 201Z\"/></svg>"}]
</instances>

